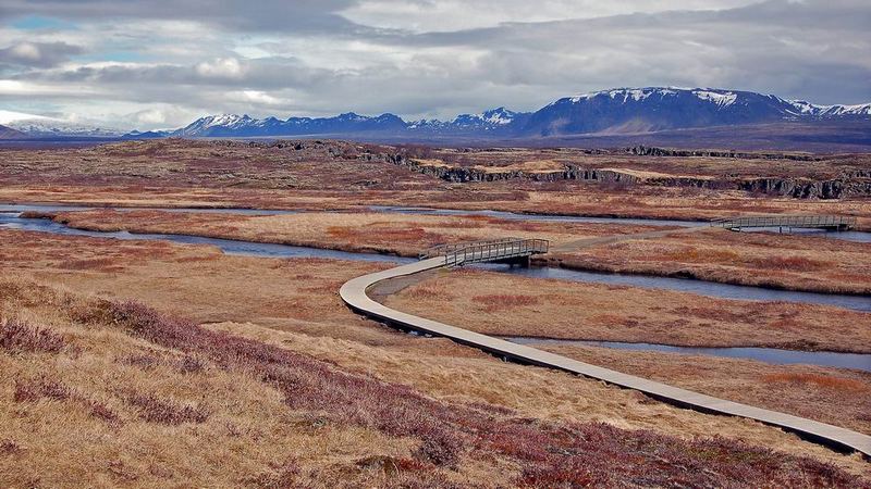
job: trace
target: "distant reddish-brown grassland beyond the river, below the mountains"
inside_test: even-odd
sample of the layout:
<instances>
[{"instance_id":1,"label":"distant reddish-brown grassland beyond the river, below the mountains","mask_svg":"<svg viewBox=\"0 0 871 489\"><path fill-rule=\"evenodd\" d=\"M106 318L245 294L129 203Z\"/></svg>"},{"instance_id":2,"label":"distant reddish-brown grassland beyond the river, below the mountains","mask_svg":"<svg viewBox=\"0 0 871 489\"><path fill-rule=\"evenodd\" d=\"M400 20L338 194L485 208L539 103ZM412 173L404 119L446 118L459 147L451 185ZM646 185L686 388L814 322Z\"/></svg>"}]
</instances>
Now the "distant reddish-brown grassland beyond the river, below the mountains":
<instances>
[{"instance_id":1,"label":"distant reddish-brown grassland beyond the river, below the mountains","mask_svg":"<svg viewBox=\"0 0 871 489\"><path fill-rule=\"evenodd\" d=\"M160 140L84 149L7 149L0 150L0 201L270 209L387 204L679 220L765 213L849 214L859 218L860 227L871 229L871 201L860 197L793 199L739 190L576 180L455 184L381 158L397 152L401 150L391 147L341 141L289 141L258 147ZM544 161L674 177L835 178L843 172L867 171L869 166L869 156L862 154L796 162L596 155L567 149L437 153L437 160L457 160L461 164L470 159L476 165L539 168Z\"/></svg>"}]
</instances>

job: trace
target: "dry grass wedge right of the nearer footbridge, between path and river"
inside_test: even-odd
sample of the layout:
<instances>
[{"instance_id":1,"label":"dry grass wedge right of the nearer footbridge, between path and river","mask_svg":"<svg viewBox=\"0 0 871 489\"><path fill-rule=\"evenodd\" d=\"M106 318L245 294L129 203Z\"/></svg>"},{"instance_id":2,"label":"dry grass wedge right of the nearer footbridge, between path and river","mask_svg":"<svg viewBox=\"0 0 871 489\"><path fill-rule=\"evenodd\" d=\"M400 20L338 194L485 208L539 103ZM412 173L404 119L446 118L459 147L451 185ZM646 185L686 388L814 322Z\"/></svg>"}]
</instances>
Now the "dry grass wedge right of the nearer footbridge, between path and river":
<instances>
[{"instance_id":1,"label":"dry grass wedge right of the nearer footbridge, between path and river","mask_svg":"<svg viewBox=\"0 0 871 489\"><path fill-rule=\"evenodd\" d=\"M594 244L553 261L572 268L869 294L869 253L871 244L863 242L704 229Z\"/></svg>"}]
</instances>

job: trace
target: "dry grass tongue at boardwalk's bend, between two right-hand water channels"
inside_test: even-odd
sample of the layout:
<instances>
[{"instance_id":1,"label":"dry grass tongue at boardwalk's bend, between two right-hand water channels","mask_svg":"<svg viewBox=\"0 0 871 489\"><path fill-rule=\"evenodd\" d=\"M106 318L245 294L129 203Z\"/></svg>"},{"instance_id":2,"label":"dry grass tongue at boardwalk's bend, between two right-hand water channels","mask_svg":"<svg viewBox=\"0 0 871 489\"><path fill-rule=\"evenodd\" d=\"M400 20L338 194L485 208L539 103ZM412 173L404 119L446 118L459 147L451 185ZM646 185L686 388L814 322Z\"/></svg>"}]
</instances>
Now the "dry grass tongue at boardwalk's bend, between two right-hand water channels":
<instances>
[{"instance_id":1,"label":"dry grass tongue at boardwalk's bend, between two right-hand water channels","mask_svg":"<svg viewBox=\"0 0 871 489\"><path fill-rule=\"evenodd\" d=\"M868 313L474 269L434 275L385 303L500 336L871 352Z\"/></svg>"}]
</instances>

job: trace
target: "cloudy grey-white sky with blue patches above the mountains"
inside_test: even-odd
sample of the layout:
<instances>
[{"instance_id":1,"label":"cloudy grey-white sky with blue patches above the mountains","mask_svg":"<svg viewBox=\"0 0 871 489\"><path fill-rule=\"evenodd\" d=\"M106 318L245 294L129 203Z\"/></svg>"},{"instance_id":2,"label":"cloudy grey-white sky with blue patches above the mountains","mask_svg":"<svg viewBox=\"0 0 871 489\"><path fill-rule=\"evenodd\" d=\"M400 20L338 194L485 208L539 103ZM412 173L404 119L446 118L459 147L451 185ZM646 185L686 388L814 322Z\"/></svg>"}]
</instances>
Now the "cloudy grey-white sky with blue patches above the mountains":
<instances>
[{"instance_id":1,"label":"cloudy grey-white sky with blue patches above the mountains","mask_svg":"<svg viewBox=\"0 0 871 489\"><path fill-rule=\"evenodd\" d=\"M616 87L871 101L869 0L0 0L0 110L452 118Z\"/></svg>"}]
</instances>

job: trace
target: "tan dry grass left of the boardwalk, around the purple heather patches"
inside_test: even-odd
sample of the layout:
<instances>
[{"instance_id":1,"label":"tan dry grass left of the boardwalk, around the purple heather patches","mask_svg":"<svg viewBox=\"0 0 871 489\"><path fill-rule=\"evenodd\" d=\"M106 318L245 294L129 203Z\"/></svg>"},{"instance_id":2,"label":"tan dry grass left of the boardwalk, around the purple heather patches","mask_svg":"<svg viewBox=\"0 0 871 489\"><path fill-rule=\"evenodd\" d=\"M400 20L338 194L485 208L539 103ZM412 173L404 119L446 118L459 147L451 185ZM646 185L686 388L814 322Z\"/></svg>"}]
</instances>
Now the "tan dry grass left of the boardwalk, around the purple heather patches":
<instances>
[{"instance_id":1,"label":"tan dry grass left of the boardwalk, around the purple heather patches","mask_svg":"<svg viewBox=\"0 0 871 489\"><path fill-rule=\"evenodd\" d=\"M19 258L4 262L10 274L23 274L53 284L63 283L69 289L76 290L76 293L96 292L113 298L114 301L137 298L155 304L162 311L183 313L197 321L223 321L224 323L210 326L209 329L223 331L222 335L232 334L233 337L241 335L258 344L266 343L280 351L289 351L281 355L293 354L294 358L303 355L309 359L305 360L305 364L327 361L326 367L339 371L336 375L344 373L338 378L345 378L343 377L345 375L353 378L363 376L398 386L396 388L401 391L412 392L415 397L422 396L428 400L427 403L437 402L439 405L446 403L452 413L466 413L464 405L486 404L489 408L474 408L473 412L492 411L493 414L487 416L535 419L531 425L512 425L514 426L512 430L520 429L522 426L527 428L512 431L510 439L539 439L536 437L549 432L543 427L553 423L560 426L589 425L590 431L575 431L578 432L578 437L589 434L584 436L594 440L596 434L606 432L606 438L621 440L622 438L616 435L623 431L610 432L608 430L611 428L597 427L599 426L597 423L605 422L613 427L629 430L628 432L635 432L637 429L650 430L651 437L638 435L636 441L640 444L630 444L638 447L638 453L645 453L643 447L668 446L668 442L661 438L663 435L679 434L683 440L691 440L694 437L706 438L712 432L717 432L752 446L833 462L854 472L866 471L866 464L855 459L833 454L825 449L798 441L795 437L755 423L668 408L630 391L606 388L594 381L556 372L505 364L445 340L424 340L379 327L348 312L335 294L338 286L345 279L378 269L381 266L378 264L222 256L204 247L167 246L158 252L151 248L152 243L147 242L115 242L101 239L47 237L19 231L3 233L7 239L0 242L0 253L4 256L17 256L15 250L19 249L28 251L26 255L21 253ZM61 271L57 267L57 263L68 259L68 254L88 258L102 253L118 253L119 262L127 262L131 265L124 274ZM148 258L132 259L139 255ZM208 260L189 260L196 256ZM327 291L329 284L334 285L331 292ZM192 480L191 484L195 485L206 485L206 481L219 479L228 480L231 485L240 485L255 484L255 481L274 482L283 477L305 481L311 480L317 475L320 477L318 480L351 480L352 482L346 484L352 485L353 481L376 484L378 480L384 480L382 477L385 477L385 473L393 473L391 467L397 466L401 469L406 467L414 473L412 468L418 467L420 463L425 466L432 463L427 457L442 456L439 454L440 449L419 450L421 446L415 437L395 438L383 434L380 428L371 429L354 424L336 425L330 422L332 417L324 418L323 414L312 416L298 411L289 413L289 405L283 400L281 390L277 390L270 381L263 384L263 380L258 379L256 375L252 377L253 371L247 367L236 371L235 367L228 369L224 366L226 364L222 359L225 356L222 355L235 359L233 352L237 351L236 347L229 348L228 343L222 342L221 348L200 349L198 344L204 344L203 341L213 338L205 333L196 334L199 338L197 341L188 341L183 337L181 346L179 343L173 346L163 342L164 340L144 336L134 327L121 327L123 324L130 324L126 319L107 324L90 309L81 309L73 304L74 312L69 314L77 318L76 324L94 325L82 328L65 323L68 319L63 315L53 316L56 313L39 309L42 304L50 303L50 290L16 287L14 284L3 283L0 291L3 294L14 293L24 298L22 299L24 305L15 306L19 316L29 321L30 324L41 324L63 334L82 351L78 360L75 360L72 351L66 353L66 350L63 350L62 362L56 362L54 355L48 355L49 358L44 359L47 362L45 365L34 365L34 368L45 371L50 375L50 379L63 383L76 391L88 394L88 399L106 404L118 414L122 426L120 429L124 430L121 435L113 432L111 437L118 440L118 446L107 447L105 442L95 444L93 440L102 440L108 436L106 432L109 431L103 430L119 428L112 428L111 424L95 418L89 408L76 402L70 403L69 406L63 404L61 408L79 406L76 410L81 412L74 410L72 414L62 418L69 421L69 416L73 416L73 419L82 419L85 424L81 426L88 426L89 430L78 430L74 436L70 432L54 432L57 430L52 430L51 427L36 432L28 431L24 427L15 428L20 431L4 430L5 439L24 447L21 453L36 453L32 449L33 442L25 442L24 435L5 435L7 432L29 434L27 436L35 437L33 440L40 440L41 444L37 446L77 447L79 452L84 450L84 453L93 454L88 460L97 461L98 464L84 468L54 464L50 469L44 471L44 477L48 477L45 474L63 474L75 479L82 477L81 471L89 469L94 474L107 474L105 478L109 481L115 480L113 477L118 477L118 474L126 474L130 477L138 477L136 480L152 480L154 477L159 477L159 480L177 480L179 477L183 477L184 480ZM321 291L311 292L312 288ZM0 312L10 314L12 309L7 304L0 306ZM38 322L35 321L37 317ZM243 323L228 322L233 319ZM165 335L160 336L164 337ZM207 341L205 344L209 343L210 341ZM230 344L240 344L241 348L250 343ZM193 372L188 372L189 368L182 367L185 356L198 359L201 364L193 368ZM3 358L2 353L0 358L4 362L9 359ZM2 365L8 366L7 363ZM115 372L121 372L123 375L113 374ZM3 378L19 378L19 375L8 374L4 371ZM356 385L354 383L351 386ZM318 387L315 390L329 393L330 389ZM366 387L363 390L354 388L352 391L358 396L360 391L368 392L368 389L370 388ZM180 425L148 422L140 416L140 409L128 402L127 396L131 390L155 396L175 408L191 405L203 409L208 413L208 417L203 423ZM0 400L11 399L12 393L8 392L8 397L0 396ZM205 393L207 396L204 396ZM240 397L243 394L244 397ZM27 405L33 404L28 408L33 418L50 418L57 415L58 412L53 410L59 409L59 402L39 401ZM69 403L69 401L63 402ZM394 405L390 402L379 402ZM19 403L19 405L24 404ZM516 414L506 414L505 410ZM0 419L16 419L16 417L0 416ZM324 419L327 424L323 424ZM159 428L156 430L155 426ZM528 431L527 429L531 429L528 426L533 426L533 431ZM95 430L99 435L96 435ZM468 440L466 437L467 435L463 435L462 439ZM571 439L580 440L578 437ZM649 441L643 441L645 439ZM653 444L645 444L648 442ZM496 461L504 460L504 464L486 459L483 462L470 465L468 454L478 453L476 450L488 450L487 443L483 448L464 448L458 459L458 468L456 471L438 468L439 474L446 474L449 480L461 485L470 480L468 477L479 481L487 480L487 484L512 485L507 478L520 477L523 473L519 471L522 464L516 462L516 456L519 455L510 452L510 447L504 451L492 449L493 453L503 453L496 456ZM573 448L574 446L560 443L563 441L556 446L564 447L573 453L578 450L576 447ZM250 446L258 447L254 457L244 449ZM174 450L183 450L185 456L167 460L133 456L128 455L127 451L119 451L119 447L130 447L137 453L139 451L175 453ZM463 444L463 447L477 447L477 444ZM528 450L532 450L533 447L535 444ZM107 450L110 454L107 454ZM615 447L614 450L615 453L621 453L624 449ZM684 455L670 453L672 454L668 457L672 460L684 460L682 459ZM426 456L419 459L416 454ZM692 459L696 455L689 456ZM585 461L585 459L573 460ZM614 460L624 459L615 455ZM100 461L107 462L102 464ZM545 464L551 462L551 459L542 461ZM494 472L492 463L500 463L501 468ZM593 460L586 460L584 463L591 467L599 466L597 465L599 462ZM722 466L729 464L732 462ZM526 465L531 468L542 466ZM45 465L33 466L34 471L45 468ZM318 468L316 475L312 475L312 467ZM623 474L621 469L610 465L608 471ZM802 471L796 473L806 473ZM555 468L544 469L544 473L552 472L559 474ZM493 478L493 474L496 473L505 478ZM407 476L413 477L414 474ZM21 477L23 479L27 475ZM240 481L243 477L245 480ZM314 482L311 485L317 486Z\"/></svg>"}]
</instances>

